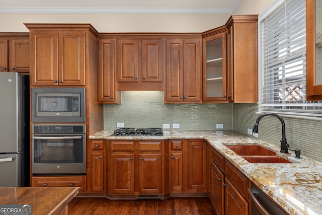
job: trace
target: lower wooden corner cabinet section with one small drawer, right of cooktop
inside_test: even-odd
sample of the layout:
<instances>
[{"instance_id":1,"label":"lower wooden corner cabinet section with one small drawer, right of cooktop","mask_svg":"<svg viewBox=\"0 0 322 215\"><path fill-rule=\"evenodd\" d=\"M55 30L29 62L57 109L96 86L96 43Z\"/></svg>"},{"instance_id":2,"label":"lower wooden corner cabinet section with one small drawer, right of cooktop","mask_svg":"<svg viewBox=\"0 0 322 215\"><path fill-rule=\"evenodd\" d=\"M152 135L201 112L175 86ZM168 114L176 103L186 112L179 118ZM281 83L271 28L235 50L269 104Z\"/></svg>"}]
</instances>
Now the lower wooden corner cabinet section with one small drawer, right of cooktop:
<instances>
[{"instance_id":1,"label":"lower wooden corner cabinet section with one small drawer, right of cooktop","mask_svg":"<svg viewBox=\"0 0 322 215\"><path fill-rule=\"evenodd\" d=\"M206 144L199 139L169 139L169 192L207 192Z\"/></svg>"}]
</instances>

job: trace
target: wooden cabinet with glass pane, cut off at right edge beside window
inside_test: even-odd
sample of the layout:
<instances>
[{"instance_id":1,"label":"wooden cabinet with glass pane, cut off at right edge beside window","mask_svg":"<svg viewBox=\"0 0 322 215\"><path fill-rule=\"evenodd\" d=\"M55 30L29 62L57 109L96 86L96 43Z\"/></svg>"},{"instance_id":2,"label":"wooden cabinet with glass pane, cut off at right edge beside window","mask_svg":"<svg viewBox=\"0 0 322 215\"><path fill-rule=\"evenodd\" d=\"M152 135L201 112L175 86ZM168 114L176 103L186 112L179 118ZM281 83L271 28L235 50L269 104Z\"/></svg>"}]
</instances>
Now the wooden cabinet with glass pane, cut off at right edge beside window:
<instances>
[{"instance_id":1,"label":"wooden cabinet with glass pane, cut off at right edge beside window","mask_svg":"<svg viewBox=\"0 0 322 215\"><path fill-rule=\"evenodd\" d=\"M322 100L322 0L306 0L306 100Z\"/></svg>"}]
</instances>

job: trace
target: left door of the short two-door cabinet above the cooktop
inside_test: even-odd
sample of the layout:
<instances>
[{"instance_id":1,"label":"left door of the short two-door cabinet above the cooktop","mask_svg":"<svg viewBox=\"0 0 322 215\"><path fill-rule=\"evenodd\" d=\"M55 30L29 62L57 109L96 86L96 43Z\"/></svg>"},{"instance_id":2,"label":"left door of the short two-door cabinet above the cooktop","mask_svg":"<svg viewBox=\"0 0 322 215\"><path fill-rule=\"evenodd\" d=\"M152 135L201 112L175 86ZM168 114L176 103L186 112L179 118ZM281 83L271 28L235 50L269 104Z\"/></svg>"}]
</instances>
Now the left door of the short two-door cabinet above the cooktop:
<instances>
[{"instance_id":1,"label":"left door of the short two-door cabinet above the cooktop","mask_svg":"<svg viewBox=\"0 0 322 215\"><path fill-rule=\"evenodd\" d=\"M118 40L117 73L119 82L138 82L138 41Z\"/></svg>"}]
</instances>

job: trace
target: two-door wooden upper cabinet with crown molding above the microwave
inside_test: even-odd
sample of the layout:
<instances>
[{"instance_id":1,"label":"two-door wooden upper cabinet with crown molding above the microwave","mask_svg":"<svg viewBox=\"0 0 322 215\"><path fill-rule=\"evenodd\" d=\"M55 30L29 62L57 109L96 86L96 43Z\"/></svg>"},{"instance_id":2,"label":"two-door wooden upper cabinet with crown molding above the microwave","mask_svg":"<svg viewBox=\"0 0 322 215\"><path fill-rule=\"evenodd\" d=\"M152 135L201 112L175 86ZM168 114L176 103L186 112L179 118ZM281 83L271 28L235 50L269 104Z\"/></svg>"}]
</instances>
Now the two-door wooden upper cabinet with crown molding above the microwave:
<instances>
[{"instance_id":1,"label":"two-door wooden upper cabinet with crown molding above the microwave","mask_svg":"<svg viewBox=\"0 0 322 215\"><path fill-rule=\"evenodd\" d=\"M85 86L97 53L90 24L25 24L30 30L33 86ZM95 43L97 46L97 43ZM97 62L96 62L97 63Z\"/></svg>"}]
</instances>

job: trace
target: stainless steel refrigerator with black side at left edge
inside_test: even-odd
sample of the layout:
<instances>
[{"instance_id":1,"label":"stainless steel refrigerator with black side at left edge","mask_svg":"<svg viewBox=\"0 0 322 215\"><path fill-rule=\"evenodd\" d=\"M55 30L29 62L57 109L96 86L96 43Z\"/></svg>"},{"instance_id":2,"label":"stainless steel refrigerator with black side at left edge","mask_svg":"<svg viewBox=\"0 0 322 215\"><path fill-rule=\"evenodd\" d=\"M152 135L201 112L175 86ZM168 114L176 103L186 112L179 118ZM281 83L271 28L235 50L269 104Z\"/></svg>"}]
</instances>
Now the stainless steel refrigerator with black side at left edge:
<instances>
[{"instance_id":1,"label":"stainless steel refrigerator with black side at left edge","mask_svg":"<svg viewBox=\"0 0 322 215\"><path fill-rule=\"evenodd\" d=\"M29 76L0 72L0 186L30 186Z\"/></svg>"}]
</instances>

